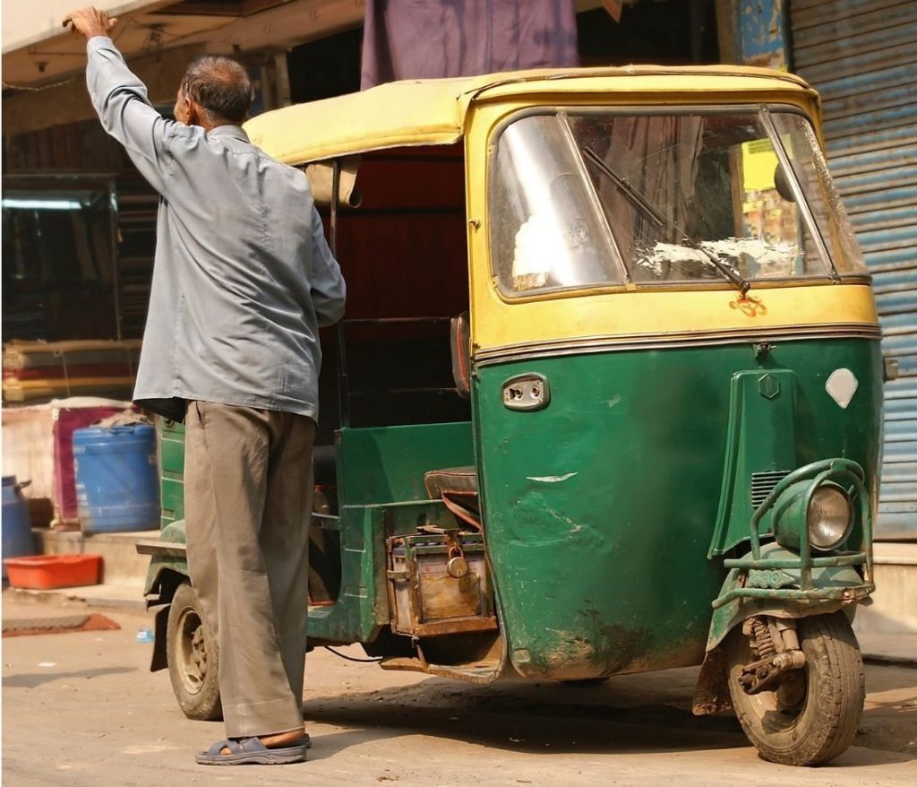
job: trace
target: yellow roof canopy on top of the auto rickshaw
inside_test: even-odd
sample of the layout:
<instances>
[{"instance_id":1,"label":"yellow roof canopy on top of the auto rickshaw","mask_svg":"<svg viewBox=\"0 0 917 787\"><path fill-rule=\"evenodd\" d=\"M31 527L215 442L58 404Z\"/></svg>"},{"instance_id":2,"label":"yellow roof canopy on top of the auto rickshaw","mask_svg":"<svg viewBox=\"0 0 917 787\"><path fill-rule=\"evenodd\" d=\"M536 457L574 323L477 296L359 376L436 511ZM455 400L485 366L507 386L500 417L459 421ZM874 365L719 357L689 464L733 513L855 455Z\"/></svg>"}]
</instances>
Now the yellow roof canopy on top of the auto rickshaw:
<instances>
[{"instance_id":1,"label":"yellow roof canopy on top of the auto rickshaw","mask_svg":"<svg viewBox=\"0 0 917 787\"><path fill-rule=\"evenodd\" d=\"M303 164L383 148L458 141L473 101L535 93L601 92L665 94L667 103L690 100L698 93L817 96L800 77L764 68L537 69L381 84L360 93L265 112L249 120L245 129L251 141L273 158Z\"/></svg>"}]
</instances>

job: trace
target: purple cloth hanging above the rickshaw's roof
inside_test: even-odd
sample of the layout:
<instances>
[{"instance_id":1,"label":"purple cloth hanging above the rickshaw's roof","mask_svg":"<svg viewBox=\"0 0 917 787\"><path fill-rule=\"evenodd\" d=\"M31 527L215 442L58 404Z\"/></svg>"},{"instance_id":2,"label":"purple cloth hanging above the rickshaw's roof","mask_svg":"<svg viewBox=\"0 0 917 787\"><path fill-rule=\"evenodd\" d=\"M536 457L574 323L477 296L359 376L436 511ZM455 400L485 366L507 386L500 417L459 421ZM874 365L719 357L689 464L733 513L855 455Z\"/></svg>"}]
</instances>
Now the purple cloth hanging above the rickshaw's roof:
<instances>
[{"instance_id":1,"label":"purple cloth hanging above the rickshaw's roof","mask_svg":"<svg viewBox=\"0 0 917 787\"><path fill-rule=\"evenodd\" d=\"M573 0L366 0L362 90L579 64Z\"/></svg>"}]
</instances>

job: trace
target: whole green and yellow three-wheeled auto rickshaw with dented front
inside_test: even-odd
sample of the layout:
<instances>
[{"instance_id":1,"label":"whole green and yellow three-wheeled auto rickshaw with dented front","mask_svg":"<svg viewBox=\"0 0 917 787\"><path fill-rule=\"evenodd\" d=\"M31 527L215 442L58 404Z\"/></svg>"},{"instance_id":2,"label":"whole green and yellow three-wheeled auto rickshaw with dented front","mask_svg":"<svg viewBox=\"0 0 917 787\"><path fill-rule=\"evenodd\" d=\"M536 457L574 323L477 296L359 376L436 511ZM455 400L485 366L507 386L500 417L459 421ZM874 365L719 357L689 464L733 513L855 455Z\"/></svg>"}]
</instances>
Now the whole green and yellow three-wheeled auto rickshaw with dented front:
<instances>
[{"instance_id":1,"label":"whole green and yellow three-wheeled auto rickshaw with dented front","mask_svg":"<svg viewBox=\"0 0 917 787\"><path fill-rule=\"evenodd\" d=\"M311 646L487 684L702 665L769 760L847 748L885 368L788 73L540 70L249 121L348 280L323 336ZM220 713L161 428L153 669Z\"/></svg>"}]
</instances>

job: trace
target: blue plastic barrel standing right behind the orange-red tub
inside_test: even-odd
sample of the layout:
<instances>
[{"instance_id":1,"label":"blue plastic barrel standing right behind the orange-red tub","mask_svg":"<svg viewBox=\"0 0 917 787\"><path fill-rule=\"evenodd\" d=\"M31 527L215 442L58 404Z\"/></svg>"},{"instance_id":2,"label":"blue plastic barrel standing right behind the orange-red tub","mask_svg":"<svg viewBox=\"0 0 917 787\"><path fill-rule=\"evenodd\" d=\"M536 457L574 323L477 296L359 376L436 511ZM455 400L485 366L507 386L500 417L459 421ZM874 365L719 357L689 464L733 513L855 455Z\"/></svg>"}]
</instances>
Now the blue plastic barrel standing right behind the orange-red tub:
<instances>
[{"instance_id":1,"label":"blue plastic barrel standing right behind the orange-red tub","mask_svg":"<svg viewBox=\"0 0 917 787\"><path fill-rule=\"evenodd\" d=\"M77 429L73 469L83 533L159 529L159 472L152 426Z\"/></svg>"}]
</instances>

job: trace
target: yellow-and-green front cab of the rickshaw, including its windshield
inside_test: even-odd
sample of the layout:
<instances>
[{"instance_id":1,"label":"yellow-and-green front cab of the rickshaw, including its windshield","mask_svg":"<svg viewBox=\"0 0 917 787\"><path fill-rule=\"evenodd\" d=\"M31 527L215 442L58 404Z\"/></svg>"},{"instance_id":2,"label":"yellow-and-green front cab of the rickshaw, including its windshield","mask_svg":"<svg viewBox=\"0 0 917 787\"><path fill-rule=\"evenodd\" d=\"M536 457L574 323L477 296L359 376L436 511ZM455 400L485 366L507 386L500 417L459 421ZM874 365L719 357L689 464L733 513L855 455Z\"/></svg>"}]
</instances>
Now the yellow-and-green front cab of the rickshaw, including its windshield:
<instances>
[{"instance_id":1,"label":"yellow-and-green front cab of the rickshaw, including its windshield","mask_svg":"<svg viewBox=\"0 0 917 787\"><path fill-rule=\"evenodd\" d=\"M481 507L508 660L533 680L699 664L755 595L834 611L812 586L832 550L856 553L845 601L871 589L880 333L817 101L632 86L503 85L470 109ZM784 479L811 498L831 460L864 490L844 538L805 550L800 587L767 563L724 587L729 559L791 529Z\"/></svg>"}]
</instances>

